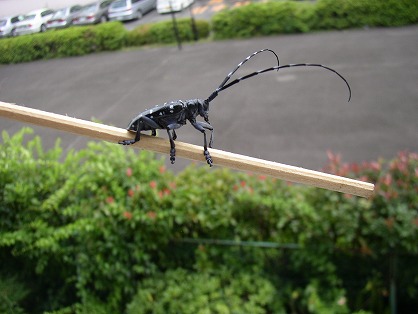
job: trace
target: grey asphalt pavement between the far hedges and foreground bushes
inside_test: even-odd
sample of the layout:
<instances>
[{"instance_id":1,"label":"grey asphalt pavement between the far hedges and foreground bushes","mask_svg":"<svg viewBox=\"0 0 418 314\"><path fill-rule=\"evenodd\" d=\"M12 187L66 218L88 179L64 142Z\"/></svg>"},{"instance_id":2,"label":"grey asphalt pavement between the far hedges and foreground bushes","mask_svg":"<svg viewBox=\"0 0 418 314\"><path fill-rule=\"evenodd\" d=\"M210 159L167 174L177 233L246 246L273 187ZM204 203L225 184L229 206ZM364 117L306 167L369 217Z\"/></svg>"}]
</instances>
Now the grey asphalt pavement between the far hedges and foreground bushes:
<instances>
[{"instance_id":1,"label":"grey asphalt pavement between the far hedges and foreground bushes","mask_svg":"<svg viewBox=\"0 0 418 314\"><path fill-rule=\"evenodd\" d=\"M321 32L109 52L0 66L0 100L125 127L140 111L169 100L207 97L243 58L274 49L281 64L334 68L270 72L221 92L211 103L214 147L310 169L327 150L349 162L418 151L418 26ZM270 67L273 55L251 59L237 75ZM24 124L0 118L0 130ZM86 139L34 127L46 146L65 149ZM165 132L160 132L166 137ZM202 144L190 124L179 141ZM175 168L188 164L178 159Z\"/></svg>"}]
</instances>

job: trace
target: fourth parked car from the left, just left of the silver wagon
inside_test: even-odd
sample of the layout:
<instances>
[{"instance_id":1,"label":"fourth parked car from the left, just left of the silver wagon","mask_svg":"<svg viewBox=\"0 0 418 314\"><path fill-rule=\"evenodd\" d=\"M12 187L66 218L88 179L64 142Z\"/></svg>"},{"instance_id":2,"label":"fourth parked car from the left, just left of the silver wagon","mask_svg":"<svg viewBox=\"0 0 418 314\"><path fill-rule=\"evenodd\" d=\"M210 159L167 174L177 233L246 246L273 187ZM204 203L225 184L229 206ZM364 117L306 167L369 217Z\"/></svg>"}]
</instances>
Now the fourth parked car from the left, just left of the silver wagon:
<instances>
[{"instance_id":1,"label":"fourth parked car from the left, just left of the silver wagon","mask_svg":"<svg viewBox=\"0 0 418 314\"><path fill-rule=\"evenodd\" d=\"M104 23L108 20L108 10L113 0L102 0L87 4L73 19L73 25Z\"/></svg>"}]
</instances>

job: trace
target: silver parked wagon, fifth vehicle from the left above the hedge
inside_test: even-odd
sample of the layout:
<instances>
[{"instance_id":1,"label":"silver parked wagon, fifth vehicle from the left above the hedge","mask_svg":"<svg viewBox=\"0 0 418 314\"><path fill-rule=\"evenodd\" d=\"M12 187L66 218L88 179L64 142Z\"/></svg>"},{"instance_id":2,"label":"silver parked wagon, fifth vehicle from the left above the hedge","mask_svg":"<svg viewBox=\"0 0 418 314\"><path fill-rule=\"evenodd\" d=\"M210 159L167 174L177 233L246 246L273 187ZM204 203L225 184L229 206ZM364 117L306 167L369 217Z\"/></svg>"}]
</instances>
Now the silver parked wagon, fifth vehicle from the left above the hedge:
<instances>
[{"instance_id":1,"label":"silver parked wagon, fifth vehicle from the left above the hedge","mask_svg":"<svg viewBox=\"0 0 418 314\"><path fill-rule=\"evenodd\" d=\"M156 0L116 0L109 7L110 21L140 19L156 7Z\"/></svg>"}]
</instances>

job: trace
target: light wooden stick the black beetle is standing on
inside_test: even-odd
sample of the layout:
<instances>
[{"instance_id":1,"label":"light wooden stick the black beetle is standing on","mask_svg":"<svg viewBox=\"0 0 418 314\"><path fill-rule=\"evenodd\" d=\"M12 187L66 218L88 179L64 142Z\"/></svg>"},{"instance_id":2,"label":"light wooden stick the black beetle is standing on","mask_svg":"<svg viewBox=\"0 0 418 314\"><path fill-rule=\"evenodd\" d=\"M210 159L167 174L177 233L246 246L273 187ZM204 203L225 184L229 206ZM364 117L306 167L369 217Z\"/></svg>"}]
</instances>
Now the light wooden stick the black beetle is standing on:
<instances>
[{"instance_id":1,"label":"light wooden stick the black beetle is standing on","mask_svg":"<svg viewBox=\"0 0 418 314\"><path fill-rule=\"evenodd\" d=\"M113 143L117 143L122 139L133 138L134 136L133 133L125 129L5 102L0 102L0 116ZM132 147L163 154L170 152L168 140L148 135L143 135L141 141L135 143ZM307 184L366 198L371 197L374 192L374 185L367 182L233 154L217 149L209 149L209 151L214 165L217 166L272 176L294 183ZM176 142L176 156L205 162L202 147L192 144Z\"/></svg>"}]
</instances>

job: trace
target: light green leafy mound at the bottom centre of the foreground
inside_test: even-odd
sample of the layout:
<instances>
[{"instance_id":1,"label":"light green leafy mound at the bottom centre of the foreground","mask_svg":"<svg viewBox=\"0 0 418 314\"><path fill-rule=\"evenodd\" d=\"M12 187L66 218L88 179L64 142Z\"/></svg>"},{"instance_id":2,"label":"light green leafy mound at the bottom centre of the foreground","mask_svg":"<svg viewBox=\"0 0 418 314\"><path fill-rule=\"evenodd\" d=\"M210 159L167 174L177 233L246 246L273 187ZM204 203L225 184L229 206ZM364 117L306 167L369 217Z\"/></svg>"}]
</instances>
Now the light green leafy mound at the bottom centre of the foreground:
<instances>
[{"instance_id":1,"label":"light green leafy mound at the bottom centre of the foreground","mask_svg":"<svg viewBox=\"0 0 418 314\"><path fill-rule=\"evenodd\" d=\"M127 313L284 313L274 298L274 286L262 277L176 269L144 280Z\"/></svg>"}]
</instances>

